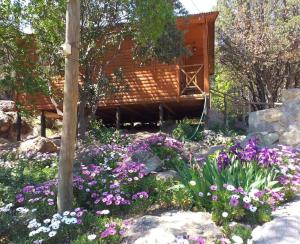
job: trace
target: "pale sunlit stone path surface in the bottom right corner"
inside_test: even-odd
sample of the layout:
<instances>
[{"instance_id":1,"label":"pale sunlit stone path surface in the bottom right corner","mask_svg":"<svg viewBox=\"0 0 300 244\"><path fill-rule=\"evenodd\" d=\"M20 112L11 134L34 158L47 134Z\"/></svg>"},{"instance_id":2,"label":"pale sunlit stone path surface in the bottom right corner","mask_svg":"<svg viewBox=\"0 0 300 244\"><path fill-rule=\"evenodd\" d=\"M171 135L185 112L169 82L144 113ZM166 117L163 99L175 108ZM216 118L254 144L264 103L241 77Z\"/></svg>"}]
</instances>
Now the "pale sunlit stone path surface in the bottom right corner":
<instances>
[{"instance_id":1,"label":"pale sunlit stone path surface in the bottom right corner","mask_svg":"<svg viewBox=\"0 0 300 244\"><path fill-rule=\"evenodd\" d=\"M300 244L300 194L279 207L274 219L252 232L254 244Z\"/></svg>"}]
</instances>

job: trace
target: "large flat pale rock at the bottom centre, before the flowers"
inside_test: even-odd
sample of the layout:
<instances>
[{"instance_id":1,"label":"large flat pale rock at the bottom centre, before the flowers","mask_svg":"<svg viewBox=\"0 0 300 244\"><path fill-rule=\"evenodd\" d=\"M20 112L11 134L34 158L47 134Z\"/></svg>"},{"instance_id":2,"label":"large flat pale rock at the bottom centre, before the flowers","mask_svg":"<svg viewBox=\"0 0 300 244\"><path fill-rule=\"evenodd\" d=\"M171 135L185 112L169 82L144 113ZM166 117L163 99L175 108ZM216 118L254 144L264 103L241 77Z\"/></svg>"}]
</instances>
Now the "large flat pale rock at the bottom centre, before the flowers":
<instances>
[{"instance_id":1,"label":"large flat pale rock at the bottom centre, before the flowers","mask_svg":"<svg viewBox=\"0 0 300 244\"><path fill-rule=\"evenodd\" d=\"M122 243L170 244L178 236L201 236L205 243L216 243L222 232L209 213L170 211L134 219Z\"/></svg>"}]
</instances>

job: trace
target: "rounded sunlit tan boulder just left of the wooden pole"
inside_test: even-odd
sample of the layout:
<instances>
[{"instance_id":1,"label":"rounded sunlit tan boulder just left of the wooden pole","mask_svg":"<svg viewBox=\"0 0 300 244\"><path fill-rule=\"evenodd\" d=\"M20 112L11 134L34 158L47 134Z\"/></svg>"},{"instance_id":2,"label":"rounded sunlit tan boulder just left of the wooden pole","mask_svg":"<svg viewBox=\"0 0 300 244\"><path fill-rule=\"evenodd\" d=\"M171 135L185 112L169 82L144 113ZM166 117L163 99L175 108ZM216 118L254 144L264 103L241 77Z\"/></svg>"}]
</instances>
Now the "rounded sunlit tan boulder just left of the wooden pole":
<instances>
[{"instance_id":1,"label":"rounded sunlit tan boulder just left of the wooden pole","mask_svg":"<svg viewBox=\"0 0 300 244\"><path fill-rule=\"evenodd\" d=\"M29 151L32 153L54 153L57 152L57 146L50 139L39 136L20 144L20 153L27 153Z\"/></svg>"}]
</instances>

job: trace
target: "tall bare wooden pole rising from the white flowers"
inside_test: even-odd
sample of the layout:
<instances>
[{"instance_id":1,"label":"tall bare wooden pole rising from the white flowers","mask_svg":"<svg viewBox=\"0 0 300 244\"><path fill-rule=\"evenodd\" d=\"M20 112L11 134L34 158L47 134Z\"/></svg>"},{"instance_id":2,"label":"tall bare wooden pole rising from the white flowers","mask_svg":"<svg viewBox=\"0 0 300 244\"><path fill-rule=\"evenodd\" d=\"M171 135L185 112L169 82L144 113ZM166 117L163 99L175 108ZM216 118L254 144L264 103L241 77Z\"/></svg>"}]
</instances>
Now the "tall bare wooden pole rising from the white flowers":
<instances>
[{"instance_id":1,"label":"tall bare wooden pole rising from the white flowers","mask_svg":"<svg viewBox=\"0 0 300 244\"><path fill-rule=\"evenodd\" d=\"M72 208L73 160L76 140L80 40L80 0L69 0L66 13L65 84L63 128L58 171L57 207ZM71 53L68 51L71 46Z\"/></svg>"}]
</instances>

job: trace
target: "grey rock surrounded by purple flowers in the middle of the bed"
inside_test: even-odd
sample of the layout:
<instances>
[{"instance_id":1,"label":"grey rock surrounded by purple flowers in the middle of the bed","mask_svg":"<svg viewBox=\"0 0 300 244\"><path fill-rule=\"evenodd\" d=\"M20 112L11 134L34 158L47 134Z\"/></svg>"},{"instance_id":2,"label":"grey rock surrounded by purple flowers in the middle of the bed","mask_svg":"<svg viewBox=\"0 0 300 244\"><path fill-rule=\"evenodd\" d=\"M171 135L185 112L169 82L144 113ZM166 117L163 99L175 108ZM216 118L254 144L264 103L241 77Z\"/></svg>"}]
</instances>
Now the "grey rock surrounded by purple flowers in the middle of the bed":
<instances>
[{"instance_id":1,"label":"grey rock surrounded by purple flowers in the middle of the bed","mask_svg":"<svg viewBox=\"0 0 300 244\"><path fill-rule=\"evenodd\" d=\"M136 163L141 163L146 166L146 172L151 173L158 171L163 166L164 162L152 152L137 152L131 156L131 160Z\"/></svg>"}]
</instances>

